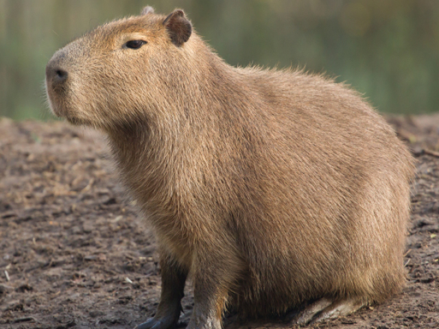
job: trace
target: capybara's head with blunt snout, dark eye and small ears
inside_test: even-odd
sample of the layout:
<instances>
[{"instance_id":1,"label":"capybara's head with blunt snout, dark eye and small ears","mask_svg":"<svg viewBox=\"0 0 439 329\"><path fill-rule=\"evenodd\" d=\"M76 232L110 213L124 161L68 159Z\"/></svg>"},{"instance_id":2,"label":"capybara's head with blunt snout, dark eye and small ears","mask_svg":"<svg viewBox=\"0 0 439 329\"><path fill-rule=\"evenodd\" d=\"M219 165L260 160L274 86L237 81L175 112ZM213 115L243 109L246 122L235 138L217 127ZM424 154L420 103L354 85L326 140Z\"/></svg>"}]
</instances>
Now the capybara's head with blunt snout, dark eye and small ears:
<instances>
[{"instance_id":1,"label":"capybara's head with blunt snout, dark eye and small ears","mask_svg":"<svg viewBox=\"0 0 439 329\"><path fill-rule=\"evenodd\" d=\"M182 72L194 56L191 34L182 10L162 16L151 7L97 27L47 64L51 109L71 123L104 130L163 114L169 97L185 84Z\"/></svg>"}]
</instances>

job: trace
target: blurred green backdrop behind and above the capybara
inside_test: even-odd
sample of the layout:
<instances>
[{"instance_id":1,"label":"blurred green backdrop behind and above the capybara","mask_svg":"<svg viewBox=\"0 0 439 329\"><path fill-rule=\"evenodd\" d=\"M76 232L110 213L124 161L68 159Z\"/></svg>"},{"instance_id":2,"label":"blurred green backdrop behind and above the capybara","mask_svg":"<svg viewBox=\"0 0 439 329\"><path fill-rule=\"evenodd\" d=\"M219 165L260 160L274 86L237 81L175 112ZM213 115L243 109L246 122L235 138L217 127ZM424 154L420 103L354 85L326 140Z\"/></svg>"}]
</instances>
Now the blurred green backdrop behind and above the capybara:
<instances>
[{"instance_id":1,"label":"blurred green backdrop behind and above the capybara","mask_svg":"<svg viewBox=\"0 0 439 329\"><path fill-rule=\"evenodd\" d=\"M183 8L229 64L326 72L381 112L439 110L437 0L0 0L0 116L51 117L51 55L144 5Z\"/></svg>"}]
</instances>

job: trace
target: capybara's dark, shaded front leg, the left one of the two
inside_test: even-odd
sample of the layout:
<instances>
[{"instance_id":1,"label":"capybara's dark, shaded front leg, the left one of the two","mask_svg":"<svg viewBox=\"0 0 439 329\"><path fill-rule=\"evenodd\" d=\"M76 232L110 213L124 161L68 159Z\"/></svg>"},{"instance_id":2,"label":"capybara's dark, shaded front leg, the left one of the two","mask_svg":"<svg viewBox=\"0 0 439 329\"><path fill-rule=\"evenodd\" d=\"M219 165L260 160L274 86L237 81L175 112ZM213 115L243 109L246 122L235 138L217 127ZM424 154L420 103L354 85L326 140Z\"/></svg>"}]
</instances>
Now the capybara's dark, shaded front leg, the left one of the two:
<instances>
[{"instance_id":1,"label":"capybara's dark, shaded front leg, the left one of the two","mask_svg":"<svg viewBox=\"0 0 439 329\"><path fill-rule=\"evenodd\" d=\"M135 329L174 328L180 317L181 299L184 295L187 270L182 269L169 254L160 252L162 291L154 317Z\"/></svg>"}]
</instances>

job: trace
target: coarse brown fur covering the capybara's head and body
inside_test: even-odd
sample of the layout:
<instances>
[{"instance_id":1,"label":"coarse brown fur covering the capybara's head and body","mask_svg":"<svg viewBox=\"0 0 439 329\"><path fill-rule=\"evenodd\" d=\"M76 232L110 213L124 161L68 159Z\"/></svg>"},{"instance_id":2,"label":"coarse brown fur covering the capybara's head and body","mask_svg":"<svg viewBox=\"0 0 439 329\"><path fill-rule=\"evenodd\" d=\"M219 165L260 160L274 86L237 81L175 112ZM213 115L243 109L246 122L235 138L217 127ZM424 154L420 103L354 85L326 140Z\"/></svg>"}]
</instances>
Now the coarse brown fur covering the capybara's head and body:
<instances>
[{"instance_id":1,"label":"coarse brown fur covering the capybara's head and body","mask_svg":"<svg viewBox=\"0 0 439 329\"><path fill-rule=\"evenodd\" d=\"M399 291L413 165L389 125L326 77L229 66L174 16L102 25L47 66L54 112L108 134L162 267L218 319Z\"/></svg>"}]
</instances>

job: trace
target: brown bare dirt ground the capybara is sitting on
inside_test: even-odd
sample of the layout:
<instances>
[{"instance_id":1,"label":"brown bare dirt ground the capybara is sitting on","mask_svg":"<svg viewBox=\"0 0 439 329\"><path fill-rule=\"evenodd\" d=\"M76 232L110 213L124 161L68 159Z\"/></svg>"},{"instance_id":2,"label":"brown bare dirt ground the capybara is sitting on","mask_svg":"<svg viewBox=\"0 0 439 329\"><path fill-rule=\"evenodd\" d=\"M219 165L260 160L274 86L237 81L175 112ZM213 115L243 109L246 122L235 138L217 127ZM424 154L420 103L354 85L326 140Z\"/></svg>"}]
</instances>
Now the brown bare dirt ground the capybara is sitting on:
<instances>
[{"instance_id":1,"label":"brown bare dirt ground the capybara is sitting on","mask_svg":"<svg viewBox=\"0 0 439 329\"><path fill-rule=\"evenodd\" d=\"M407 286L313 328L439 328L439 116L388 119L418 160ZM0 120L0 328L133 328L158 304L155 246L101 135ZM192 306L189 284L179 327ZM226 319L226 329L238 327L291 328L284 319Z\"/></svg>"}]
</instances>

